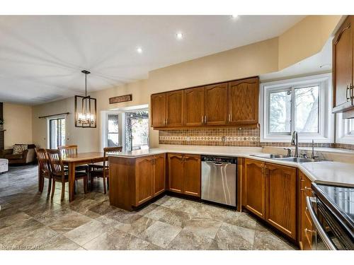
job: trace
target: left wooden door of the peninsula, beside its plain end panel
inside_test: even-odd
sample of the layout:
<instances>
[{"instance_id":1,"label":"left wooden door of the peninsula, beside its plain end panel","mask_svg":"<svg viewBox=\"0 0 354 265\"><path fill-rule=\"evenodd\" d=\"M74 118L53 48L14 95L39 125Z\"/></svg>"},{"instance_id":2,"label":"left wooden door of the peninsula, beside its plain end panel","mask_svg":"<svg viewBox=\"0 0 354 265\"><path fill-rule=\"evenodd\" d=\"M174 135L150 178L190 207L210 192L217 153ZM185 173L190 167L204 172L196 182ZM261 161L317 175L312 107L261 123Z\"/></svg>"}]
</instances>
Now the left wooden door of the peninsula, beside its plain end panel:
<instances>
[{"instance_id":1,"label":"left wooden door of the peninsula, beside its plain end panel","mask_svg":"<svg viewBox=\"0 0 354 265\"><path fill-rule=\"evenodd\" d=\"M154 196L154 170L152 156L135 160L135 206Z\"/></svg>"}]
</instances>

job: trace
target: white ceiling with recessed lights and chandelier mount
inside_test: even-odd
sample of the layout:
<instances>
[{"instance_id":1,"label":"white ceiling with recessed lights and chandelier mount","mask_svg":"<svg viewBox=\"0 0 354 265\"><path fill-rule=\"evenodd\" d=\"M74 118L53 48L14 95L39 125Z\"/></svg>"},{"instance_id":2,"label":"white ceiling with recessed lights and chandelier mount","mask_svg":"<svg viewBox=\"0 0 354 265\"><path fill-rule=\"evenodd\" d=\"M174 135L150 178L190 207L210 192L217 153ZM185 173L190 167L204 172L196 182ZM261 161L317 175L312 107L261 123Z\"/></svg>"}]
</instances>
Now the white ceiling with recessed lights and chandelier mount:
<instances>
[{"instance_id":1,"label":"white ceiling with recessed lights and chandelier mount","mask_svg":"<svg viewBox=\"0 0 354 265\"><path fill-rule=\"evenodd\" d=\"M0 102L30 105L276 37L304 16L0 16ZM183 40L176 40L181 31ZM142 47L138 54L137 47Z\"/></svg>"}]
</instances>

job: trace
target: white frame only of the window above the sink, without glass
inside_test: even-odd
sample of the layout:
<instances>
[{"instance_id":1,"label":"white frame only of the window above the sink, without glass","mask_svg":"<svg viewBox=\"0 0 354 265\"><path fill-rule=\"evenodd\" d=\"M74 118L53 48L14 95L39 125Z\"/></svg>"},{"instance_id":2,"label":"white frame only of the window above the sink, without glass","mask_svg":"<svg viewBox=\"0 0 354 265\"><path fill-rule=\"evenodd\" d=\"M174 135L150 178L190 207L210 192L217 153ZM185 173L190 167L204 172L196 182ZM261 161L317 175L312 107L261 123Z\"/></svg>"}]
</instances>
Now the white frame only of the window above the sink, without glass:
<instances>
[{"instance_id":1,"label":"white frame only of the window above the sink, without glass","mask_svg":"<svg viewBox=\"0 0 354 265\"><path fill-rule=\"evenodd\" d=\"M292 102L294 102L294 90L304 86L319 86L319 132L299 133L299 142L309 143L314 139L321 143L333 143L334 140L334 115L332 110L332 86L331 73L323 73L315 76L305 76L281 81L261 83L259 117L261 117L261 142L287 142L291 141L294 131L290 128L290 134L270 134L269 128L269 94L275 91L292 90ZM294 105L292 105L292 121L295 119ZM293 124L293 123L292 123Z\"/></svg>"}]
</instances>

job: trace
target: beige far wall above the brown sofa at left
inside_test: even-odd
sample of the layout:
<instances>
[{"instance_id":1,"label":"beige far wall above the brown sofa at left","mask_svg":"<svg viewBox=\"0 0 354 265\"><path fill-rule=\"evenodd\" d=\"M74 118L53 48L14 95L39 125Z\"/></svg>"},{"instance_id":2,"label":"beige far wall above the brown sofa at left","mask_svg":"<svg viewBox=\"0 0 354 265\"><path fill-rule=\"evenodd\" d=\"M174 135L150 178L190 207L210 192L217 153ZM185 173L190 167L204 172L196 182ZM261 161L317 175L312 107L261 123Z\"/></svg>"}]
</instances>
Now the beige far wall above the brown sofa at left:
<instances>
[{"instance_id":1,"label":"beige far wall above the brown sofa at left","mask_svg":"<svg viewBox=\"0 0 354 265\"><path fill-rule=\"evenodd\" d=\"M15 143L33 143L32 107L4 103L5 149Z\"/></svg>"}]
</instances>

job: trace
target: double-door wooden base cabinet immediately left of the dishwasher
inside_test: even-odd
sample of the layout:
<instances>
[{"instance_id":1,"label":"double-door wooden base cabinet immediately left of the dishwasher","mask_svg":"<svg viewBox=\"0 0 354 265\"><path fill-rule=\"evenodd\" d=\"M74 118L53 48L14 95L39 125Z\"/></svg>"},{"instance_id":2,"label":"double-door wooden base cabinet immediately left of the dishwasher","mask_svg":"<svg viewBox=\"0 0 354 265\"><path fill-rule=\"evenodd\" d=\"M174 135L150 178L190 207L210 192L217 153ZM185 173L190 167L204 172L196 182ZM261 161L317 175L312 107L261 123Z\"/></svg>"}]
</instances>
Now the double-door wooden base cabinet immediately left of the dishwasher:
<instances>
[{"instance_id":1,"label":"double-door wooden base cabinet immediately left of the dishwasher","mask_svg":"<svg viewBox=\"0 0 354 265\"><path fill-rule=\"evenodd\" d=\"M200 197L200 155L168 154L169 190Z\"/></svg>"}]
</instances>

